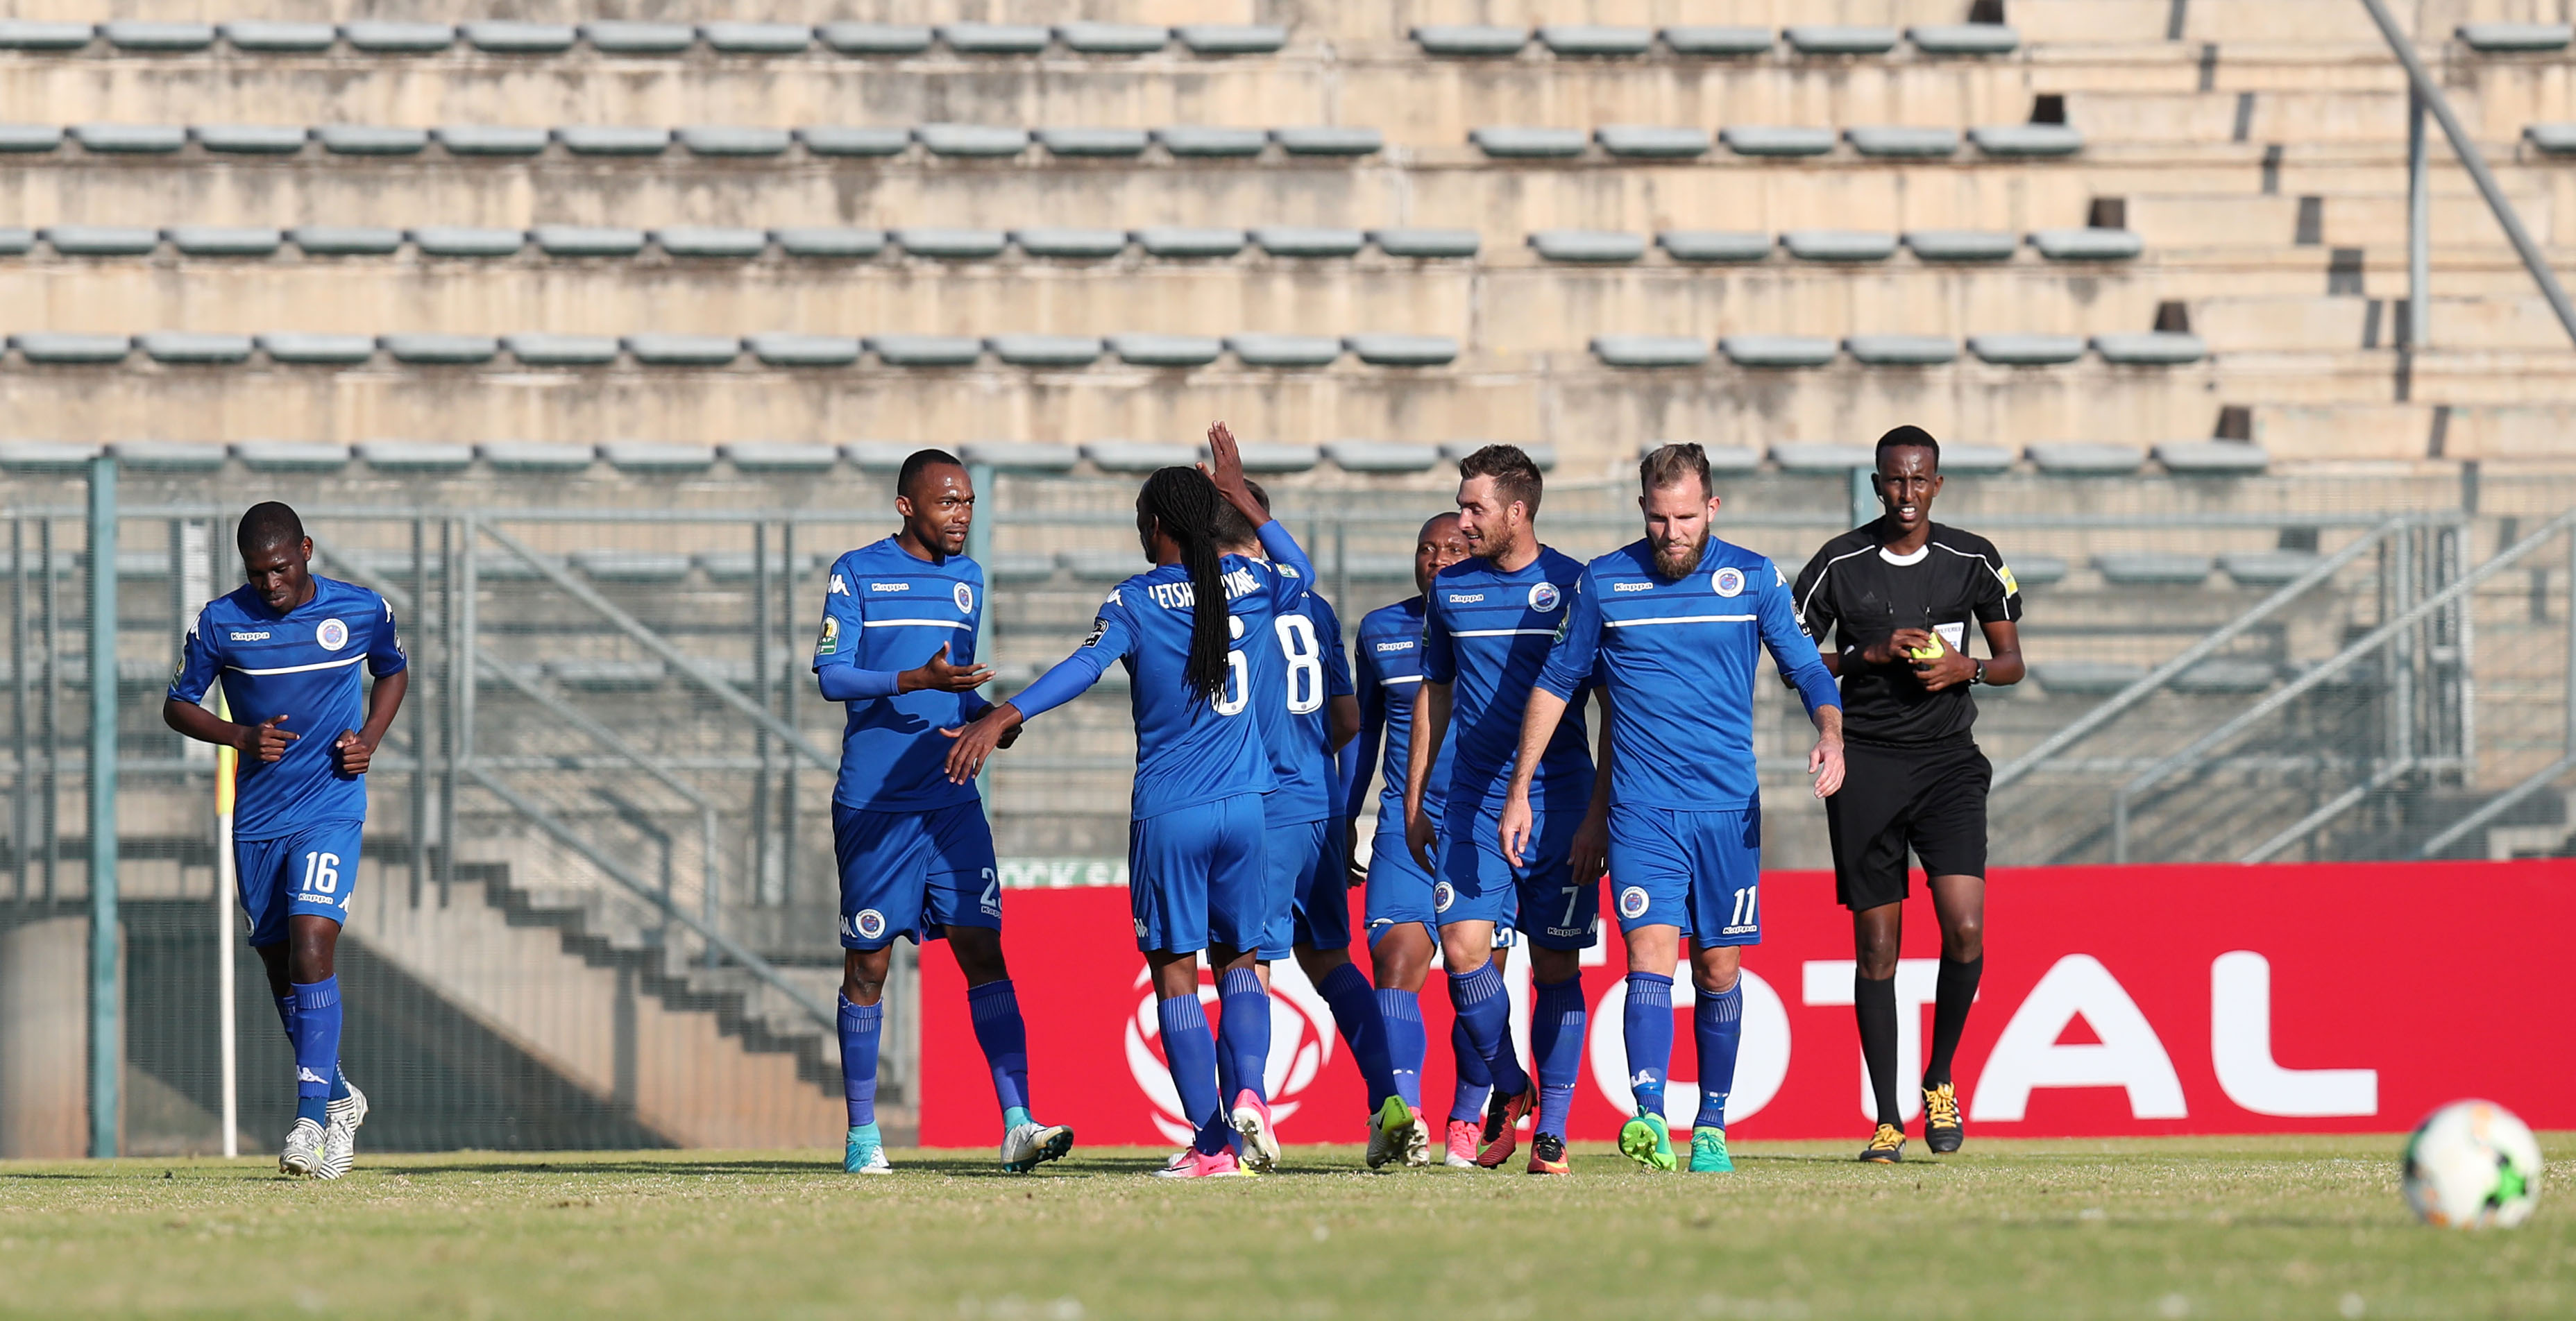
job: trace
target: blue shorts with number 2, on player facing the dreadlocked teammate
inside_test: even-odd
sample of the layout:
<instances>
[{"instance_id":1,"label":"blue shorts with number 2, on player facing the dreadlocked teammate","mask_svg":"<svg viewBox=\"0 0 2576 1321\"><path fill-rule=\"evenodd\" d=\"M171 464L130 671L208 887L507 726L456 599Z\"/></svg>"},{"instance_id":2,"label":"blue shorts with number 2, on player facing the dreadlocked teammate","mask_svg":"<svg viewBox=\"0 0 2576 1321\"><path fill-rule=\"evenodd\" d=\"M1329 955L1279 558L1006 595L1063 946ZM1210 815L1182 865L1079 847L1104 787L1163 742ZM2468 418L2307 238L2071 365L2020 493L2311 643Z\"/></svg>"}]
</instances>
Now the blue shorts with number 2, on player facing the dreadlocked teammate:
<instances>
[{"instance_id":1,"label":"blue shorts with number 2, on player facing the dreadlocked teammate","mask_svg":"<svg viewBox=\"0 0 2576 1321\"><path fill-rule=\"evenodd\" d=\"M860 811L832 803L840 860L840 948L914 945L945 927L1002 930L1002 878L984 803L938 811Z\"/></svg>"}]
</instances>

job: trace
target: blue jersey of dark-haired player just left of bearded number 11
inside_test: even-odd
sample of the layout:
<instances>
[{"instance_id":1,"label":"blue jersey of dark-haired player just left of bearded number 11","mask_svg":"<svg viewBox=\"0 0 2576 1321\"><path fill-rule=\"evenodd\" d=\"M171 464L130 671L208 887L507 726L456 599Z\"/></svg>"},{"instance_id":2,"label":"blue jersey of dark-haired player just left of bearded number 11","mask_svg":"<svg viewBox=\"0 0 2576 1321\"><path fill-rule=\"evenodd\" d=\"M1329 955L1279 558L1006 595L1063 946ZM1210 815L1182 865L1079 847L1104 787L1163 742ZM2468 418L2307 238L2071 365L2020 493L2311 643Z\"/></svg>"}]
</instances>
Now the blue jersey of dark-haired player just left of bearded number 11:
<instances>
[{"instance_id":1,"label":"blue jersey of dark-haired player just left of bearded number 11","mask_svg":"<svg viewBox=\"0 0 2576 1321\"><path fill-rule=\"evenodd\" d=\"M1548 646L1566 626L1574 579L1584 567L1561 551L1538 548L1517 572L1484 559L1461 559L1432 579L1422 613L1422 677L1450 685L1448 803L1502 811L1520 754L1520 713L1530 703ZM1569 803L1592 796L1592 749L1584 747L1582 703L1566 708L1546 757L1530 780L1533 803Z\"/></svg>"}]
</instances>

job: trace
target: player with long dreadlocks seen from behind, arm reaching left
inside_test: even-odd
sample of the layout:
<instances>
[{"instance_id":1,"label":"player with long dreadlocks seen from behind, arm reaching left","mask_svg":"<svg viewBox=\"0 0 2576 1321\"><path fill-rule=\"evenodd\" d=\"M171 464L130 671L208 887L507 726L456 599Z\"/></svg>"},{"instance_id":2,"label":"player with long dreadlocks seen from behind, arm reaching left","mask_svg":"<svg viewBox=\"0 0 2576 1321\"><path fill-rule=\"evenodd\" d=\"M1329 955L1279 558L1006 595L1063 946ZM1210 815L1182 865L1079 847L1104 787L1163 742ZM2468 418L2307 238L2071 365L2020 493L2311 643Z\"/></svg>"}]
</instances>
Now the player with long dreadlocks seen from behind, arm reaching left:
<instances>
[{"instance_id":1,"label":"player with long dreadlocks seen from behind, arm reaching left","mask_svg":"<svg viewBox=\"0 0 2576 1321\"><path fill-rule=\"evenodd\" d=\"M1162 1022L1162 1053L1190 1148L1159 1177L1206 1179L1278 1164L1278 1133L1262 1094L1270 1056L1270 994L1255 960L1270 919L1262 796L1273 788L1252 706L1252 654L1273 621L1296 610L1314 567L1288 528L1244 484L1242 451L1224 422L1208 427L1211 471L1159 469L1136 494L1136 541L1149 572L1100 603L1090 639L1072 657L951 731L948 778L969 783L1023 721L1054 711L1128 667L1136 716L1136 788L1128 824L1128 904ZM1216 505L1260 528L1270 561L1226 556ZM1198 1007L1198 955L1218 973L1221 1025L1211 1040ZM1216 1053L1231 1056L1231 1110L1216 1089ZM1242 1136L1244 1154L1234 1154Z\"/></svg>"}]
</instances>

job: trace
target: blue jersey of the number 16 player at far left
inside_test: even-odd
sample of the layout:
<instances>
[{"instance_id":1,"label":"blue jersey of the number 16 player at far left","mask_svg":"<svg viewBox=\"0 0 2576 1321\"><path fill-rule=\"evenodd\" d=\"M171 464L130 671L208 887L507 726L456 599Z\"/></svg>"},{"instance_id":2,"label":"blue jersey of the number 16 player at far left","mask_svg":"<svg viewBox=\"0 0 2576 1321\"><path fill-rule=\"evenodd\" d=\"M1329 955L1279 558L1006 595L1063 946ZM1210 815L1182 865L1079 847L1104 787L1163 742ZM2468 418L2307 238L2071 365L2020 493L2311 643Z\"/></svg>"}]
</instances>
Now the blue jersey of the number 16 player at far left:
<instances>
[{"instance_id":1,"label":"blue jersey of the number 16 player at far left","mask_svg":"<svg viewBox=\"0 0 2576 1321\"><path fill-rule=\"evenodd\" d=\"M394 608L355 582L314 574L314 597L276 613L250 587L214 597L188 626L170 695L198 703L216 677L234 724L296 734L276 762L242 757L232 834L276 839L319 821L366 821L366 775L340 775L332 744L366 729L358 664L379 680L404 670Z\"/></svg>"}]
</instances>

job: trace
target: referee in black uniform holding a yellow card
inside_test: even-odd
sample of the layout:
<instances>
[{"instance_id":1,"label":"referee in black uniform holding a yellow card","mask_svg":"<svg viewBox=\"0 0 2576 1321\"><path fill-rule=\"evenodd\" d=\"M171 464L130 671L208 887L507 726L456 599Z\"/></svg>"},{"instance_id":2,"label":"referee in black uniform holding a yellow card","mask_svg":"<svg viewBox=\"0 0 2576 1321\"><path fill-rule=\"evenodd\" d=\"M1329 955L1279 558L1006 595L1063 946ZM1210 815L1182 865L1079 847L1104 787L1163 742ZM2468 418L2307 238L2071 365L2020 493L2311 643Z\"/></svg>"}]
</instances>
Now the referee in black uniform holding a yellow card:
<instances>
[{"instance_id":1,"label":"referee in black uniform holding a yellow card","mask_svg":"<svg viewBox=\"0 0 2576 1321\"><path fill-rule=\"evenodd\" d=\"M1826 541L1798 574L1798 621L1842 677L1847 775L1824 801L1834 837L1834 896L1852 909L1852 1012L1870 1069L1878 1130L1862 1161L1901 1161L1896 1107L1896 948L1904 935L1906 850L1932 878L1940 914L1940 997L1924 1058L1924 1146L1965 1138L1950 1056L1986 971L1986 788L1976 749L1976 685L2022 680L2022 592L1994 543L1932 523L1940 440L1922 427L1878 438L1873 523ZM1968 654L1968 626L1986 659ZM1832 636L1832 639L1829 639Z\"/></svg>"}]
</instances>

